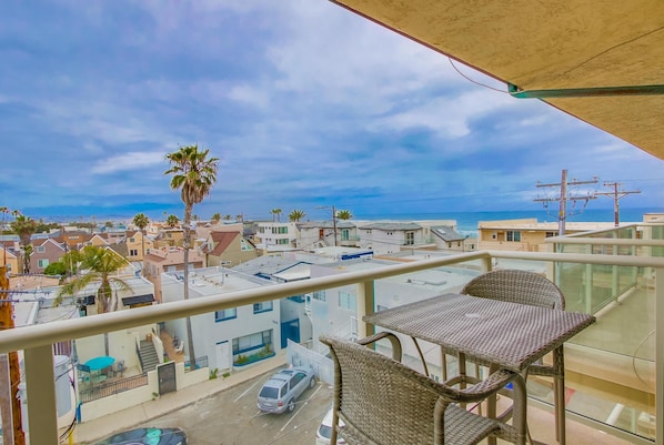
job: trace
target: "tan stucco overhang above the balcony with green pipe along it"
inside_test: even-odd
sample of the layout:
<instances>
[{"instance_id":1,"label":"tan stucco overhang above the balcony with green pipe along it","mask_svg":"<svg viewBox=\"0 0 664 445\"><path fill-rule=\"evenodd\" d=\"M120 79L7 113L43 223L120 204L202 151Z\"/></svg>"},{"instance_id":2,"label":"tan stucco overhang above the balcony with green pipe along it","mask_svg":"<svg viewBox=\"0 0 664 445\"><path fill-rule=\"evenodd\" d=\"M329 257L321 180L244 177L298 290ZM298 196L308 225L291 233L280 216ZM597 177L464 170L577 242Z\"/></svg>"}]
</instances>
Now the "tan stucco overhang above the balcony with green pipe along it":
<instances>
[{"instance_id":1,"label":"tan stucco overhang above the balcony with green pipe along it","mask_svg":"<svg viewBox=\"0 0 664 445\"><path fill-rule=\"evenodd\" d=\"M332 1L664 160L662 0Z\"/></svg>"}]
</instances>

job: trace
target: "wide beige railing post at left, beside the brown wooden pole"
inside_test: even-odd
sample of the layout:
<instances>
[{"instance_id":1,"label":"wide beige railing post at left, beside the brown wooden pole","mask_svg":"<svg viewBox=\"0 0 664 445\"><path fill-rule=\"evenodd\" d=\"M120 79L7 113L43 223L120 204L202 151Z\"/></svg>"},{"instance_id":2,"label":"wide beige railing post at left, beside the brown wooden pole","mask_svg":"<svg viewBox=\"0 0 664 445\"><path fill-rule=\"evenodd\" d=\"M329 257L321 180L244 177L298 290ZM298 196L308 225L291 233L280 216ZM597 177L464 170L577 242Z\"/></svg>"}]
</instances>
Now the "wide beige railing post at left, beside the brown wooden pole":
<instances>
[{"instance_id":1,"label":"wide beige railing post at left, beside the brown wooden pole","mask_svg":"<svg viewBox=\"0 0 664 445\"><path fill-rule=\"evenodd\" d=\"M28 428L31 444L58 445L52 345L24 351ZM44 375L43 370L50 370ZM50 378L49 378L50 376Z\"/></svg>"}]
</instances>

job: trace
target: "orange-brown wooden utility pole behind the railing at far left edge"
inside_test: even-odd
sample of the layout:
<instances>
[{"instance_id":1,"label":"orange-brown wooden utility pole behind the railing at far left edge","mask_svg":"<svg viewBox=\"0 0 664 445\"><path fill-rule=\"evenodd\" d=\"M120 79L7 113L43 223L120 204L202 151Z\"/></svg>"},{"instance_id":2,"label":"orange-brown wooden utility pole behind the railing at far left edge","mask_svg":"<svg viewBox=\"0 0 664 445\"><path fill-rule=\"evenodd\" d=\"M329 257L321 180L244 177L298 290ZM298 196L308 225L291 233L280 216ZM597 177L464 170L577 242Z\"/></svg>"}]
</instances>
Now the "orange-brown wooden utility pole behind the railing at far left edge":
<instances>
[{"instance_id":1,"label":"orange-brown wooden utility pole behind the railing at far left edge","mask_svg":"<svg viewBox=\"0 0 664 445\"><path fill-rule=\"evenodd\" d=\"M13 306L9 297L9 277L7 265L0 266L0 330L13 328ZM7 297L4 297L7 295ZM16 351L0 356L0 408L2 413L2 431L4 444L24 445L26 435L21 422L21 400L19 398L19 383L21 373L19 356ZM7 387L7 391L4 391ZM12 437L13 436L13 437Z\"/></svg>"}]
</instances>

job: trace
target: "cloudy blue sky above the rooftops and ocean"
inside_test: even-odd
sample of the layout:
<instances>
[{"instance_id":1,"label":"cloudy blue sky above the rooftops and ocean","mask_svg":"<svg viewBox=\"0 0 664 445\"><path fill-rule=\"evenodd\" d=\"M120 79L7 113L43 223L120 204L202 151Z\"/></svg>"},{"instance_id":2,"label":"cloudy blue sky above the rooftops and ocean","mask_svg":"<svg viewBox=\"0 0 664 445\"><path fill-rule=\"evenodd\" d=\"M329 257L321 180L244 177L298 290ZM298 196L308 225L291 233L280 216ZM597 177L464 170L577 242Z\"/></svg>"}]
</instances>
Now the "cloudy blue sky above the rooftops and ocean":
<instances>
[{"instance_id":1,"label":"cloudy blue sky above the rooftops and ocean","mask_svg":"<svg viewBox=\"0 0 664 445\"><path fill-rule=\"evenodd\" d=\"M181 216L192 143L202 219L541 210L563 169L664 208L662 161L325 0L2 2L0 60L0 205L36 219Z\"/></svg>"}]
</instances>

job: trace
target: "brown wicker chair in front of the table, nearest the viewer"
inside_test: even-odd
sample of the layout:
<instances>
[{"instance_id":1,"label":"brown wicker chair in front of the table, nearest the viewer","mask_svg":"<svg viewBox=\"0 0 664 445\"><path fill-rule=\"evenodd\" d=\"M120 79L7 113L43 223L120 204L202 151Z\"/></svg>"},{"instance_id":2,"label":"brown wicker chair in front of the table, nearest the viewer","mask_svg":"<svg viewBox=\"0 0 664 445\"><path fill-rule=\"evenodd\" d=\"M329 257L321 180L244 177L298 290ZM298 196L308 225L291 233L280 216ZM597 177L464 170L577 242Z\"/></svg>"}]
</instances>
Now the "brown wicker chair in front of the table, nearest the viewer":
<instances>
[{"instance_id":1,"label":"brown wicker chair in front of the table, nearest the viewer","mask_svg":"<svg viewBox=\"0 0 664 445\"><path fill-rule=\"evenodd\" d=\"M392 342L392 358L365 346L381 338ZM394 334L381 332L359 342L329 335L320 340L334 361L330 443L335 444L338 435L351 445L473 445L489 436L525 443L525 384L520 374L496 371L460 390L401 364ZM523 397L515 403L512 425L459 406L482 402L509 383Z\"/></svg>"}]
</instances>

